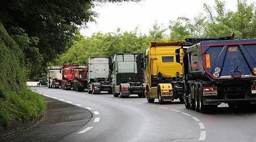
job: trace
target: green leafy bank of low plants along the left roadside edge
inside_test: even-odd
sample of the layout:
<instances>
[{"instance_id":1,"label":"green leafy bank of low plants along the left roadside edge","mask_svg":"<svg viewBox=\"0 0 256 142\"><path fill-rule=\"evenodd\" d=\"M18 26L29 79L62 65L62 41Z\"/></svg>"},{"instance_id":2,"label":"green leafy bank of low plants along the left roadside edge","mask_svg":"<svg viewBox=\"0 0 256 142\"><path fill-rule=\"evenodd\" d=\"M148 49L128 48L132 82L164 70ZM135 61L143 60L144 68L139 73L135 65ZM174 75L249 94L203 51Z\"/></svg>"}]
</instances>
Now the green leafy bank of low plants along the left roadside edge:
<instances>
[{"instance_id":1,"label":"green leafy bank of low plants along the left roadside edge","mask_svg":"<svg viewBox=\"0 0 256 142\"><path fill-rule=\"evenodd\" d=\"M20 36L26 36L21 34ZM25 39L25 37L23 37ZM22 39L22 38L19 38ZM19 41L19 45L22 40ZM27 41L24 41L27 42ZM22 49L0 23L0 125L29 120L46 110L43 97L26 86L27 73ZM27 44L23 44L27 45Z\"/></svg>"}]
</instances>

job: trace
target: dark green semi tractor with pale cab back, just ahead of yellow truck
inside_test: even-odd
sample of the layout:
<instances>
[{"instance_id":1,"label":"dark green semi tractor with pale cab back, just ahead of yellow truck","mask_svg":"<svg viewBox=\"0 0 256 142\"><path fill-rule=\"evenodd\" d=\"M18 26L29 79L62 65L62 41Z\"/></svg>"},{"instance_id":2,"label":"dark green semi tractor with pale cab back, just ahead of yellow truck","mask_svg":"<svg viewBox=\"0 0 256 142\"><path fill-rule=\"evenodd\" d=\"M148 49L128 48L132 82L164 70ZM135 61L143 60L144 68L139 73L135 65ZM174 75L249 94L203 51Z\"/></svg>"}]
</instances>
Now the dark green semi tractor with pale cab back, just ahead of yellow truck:
<instances>
[{"instance_id":1,"label":"dark green semi tractor with pale cab back, just ahead of yellow truck","mask_svg":"<svg viewBox=\"0 0 256 142\"><path fill-rule=\"evenodd\" d=\"M114 97L129 97L138 94L144 97L143 53L116 53L113 57L113 94Z\"/></svg>"}]
</instances>

